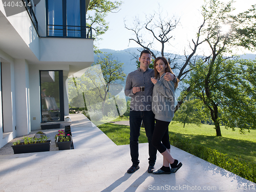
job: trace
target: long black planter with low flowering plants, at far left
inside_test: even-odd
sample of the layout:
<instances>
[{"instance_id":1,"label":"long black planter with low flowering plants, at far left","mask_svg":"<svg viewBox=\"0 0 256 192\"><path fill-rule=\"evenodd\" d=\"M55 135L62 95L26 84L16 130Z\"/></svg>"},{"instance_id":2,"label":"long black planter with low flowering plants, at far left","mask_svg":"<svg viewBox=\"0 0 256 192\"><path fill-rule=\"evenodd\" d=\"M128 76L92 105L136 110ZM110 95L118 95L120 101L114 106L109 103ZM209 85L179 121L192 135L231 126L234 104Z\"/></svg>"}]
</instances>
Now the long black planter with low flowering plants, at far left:
<instances>
[{"instance_id":1,"label":"long black planter with low flowering plants, at far left","mask_svg":"<svg viewBox=\"0 0 256 192\"><path fill-rule=\"evenodd\" d=\"M51 140L46 136L40 138L35 137L23 137L24 142L19 140L12 143L12 149L14 154L21 153L34 153L34 152L49 152Z\"/></svg>"}]
</instances>

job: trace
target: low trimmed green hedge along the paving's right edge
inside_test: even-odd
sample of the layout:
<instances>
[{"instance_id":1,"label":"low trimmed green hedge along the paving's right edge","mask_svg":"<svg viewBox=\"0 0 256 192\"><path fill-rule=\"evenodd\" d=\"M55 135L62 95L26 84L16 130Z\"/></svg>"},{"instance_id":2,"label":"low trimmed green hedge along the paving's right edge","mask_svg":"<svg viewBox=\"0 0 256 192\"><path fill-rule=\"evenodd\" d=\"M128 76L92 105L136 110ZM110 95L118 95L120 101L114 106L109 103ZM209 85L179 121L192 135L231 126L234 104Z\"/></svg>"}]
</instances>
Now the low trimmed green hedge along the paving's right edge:
<instances>
[{"instance_id":1,"label":"low trimmed green hedge along the paving's right edge","mask_svg":"<svg viewBox=\"0 0 256 192\"><path fill-rule=\"evenodd\" d=\"M239 160L238 157L230 158L227 154L219 153L217 150L203 145L193 144L188 138L177 137L176 134L170 135L170 144L209 163L224 168L233 174L254 183L256 182L256 165L253 163L246 163Z\"/></svg>"}]
</instances>

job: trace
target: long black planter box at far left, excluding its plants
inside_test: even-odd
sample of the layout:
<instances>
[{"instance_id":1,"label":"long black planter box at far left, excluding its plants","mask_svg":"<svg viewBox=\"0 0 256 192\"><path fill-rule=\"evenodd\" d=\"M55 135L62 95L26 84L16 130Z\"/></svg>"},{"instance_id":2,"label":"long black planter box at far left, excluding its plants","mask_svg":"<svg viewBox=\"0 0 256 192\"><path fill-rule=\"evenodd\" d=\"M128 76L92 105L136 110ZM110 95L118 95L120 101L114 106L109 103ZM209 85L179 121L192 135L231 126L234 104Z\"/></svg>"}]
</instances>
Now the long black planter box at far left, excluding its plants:
<instances>
[{"instance_id":1,"label":"long black planter box at far left, excluding its plants","mask_svg":"<svg viewBox=\"0 0 256 192\"><path fill-rule=\"evenodd\" d=\"M12 145L14 154L21 153L34 153L34 152L49 152L51 146L51 140L47 140L45 143L33 143L24 144L21 142L19 145Z\"/></svg>"}]
</instances>

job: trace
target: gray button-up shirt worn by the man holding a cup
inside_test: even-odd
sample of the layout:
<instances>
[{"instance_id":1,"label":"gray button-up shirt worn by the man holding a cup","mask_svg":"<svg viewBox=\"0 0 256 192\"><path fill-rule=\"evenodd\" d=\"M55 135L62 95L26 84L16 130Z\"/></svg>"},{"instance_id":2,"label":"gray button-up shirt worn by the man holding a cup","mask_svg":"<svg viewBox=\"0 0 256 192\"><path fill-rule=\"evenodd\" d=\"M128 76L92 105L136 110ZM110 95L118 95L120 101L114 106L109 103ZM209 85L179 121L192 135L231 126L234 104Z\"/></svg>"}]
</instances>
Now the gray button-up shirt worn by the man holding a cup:
<instances>
[{"instance_id":1,"label":"gray button-up shirt worn by the man holding a cup","mask_svg":"<svg viewBox=\"0 0 256 192\"><path fill-rule=\"evenodd\" d=\"M124 93L131 97L131 110L133 111L151 111L152 93L154 84L151 77L154 77L154 69L147 69L143 72L140 68L129 73L126 78ZM145 91L133 94L134 87L145 87Z\"/></svg>"}]
</instances>

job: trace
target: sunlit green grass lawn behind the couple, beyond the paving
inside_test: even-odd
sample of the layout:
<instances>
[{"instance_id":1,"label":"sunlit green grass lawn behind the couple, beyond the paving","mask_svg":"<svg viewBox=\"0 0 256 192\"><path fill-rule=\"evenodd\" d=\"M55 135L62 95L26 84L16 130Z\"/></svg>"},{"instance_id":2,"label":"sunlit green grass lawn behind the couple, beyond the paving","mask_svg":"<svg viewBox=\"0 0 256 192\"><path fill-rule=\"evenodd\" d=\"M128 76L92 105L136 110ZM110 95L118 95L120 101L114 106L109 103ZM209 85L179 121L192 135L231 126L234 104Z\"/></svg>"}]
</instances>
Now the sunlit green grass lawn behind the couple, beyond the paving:
<instances>
[{"instance_id":1,"label":"sunlit green grass lawn behind the couple, beyond the paving","mask_svg":"<svg viewBox=\"0 0 256 192\"><path fill-rule=\"evenodd\" d=\"M129 144L129 126L105 123L98 127L117 145ZM222 137L216 137L214 125L203 124L202 126L197 126L195 124L189 124L183 128L183 124L175 123L169 125L169 133L175 133L178 137L188 137L195 144L202 144L214 148L220 153L228 154L231 158L236 156L240 158L241 156L241 159L246 162L256 163L256 130L251 130L250 133L240 134L239 130L233 132L221 126ZM140 132L139 142L147 142L143 128Z\"/></svg>"}]
</instances>

